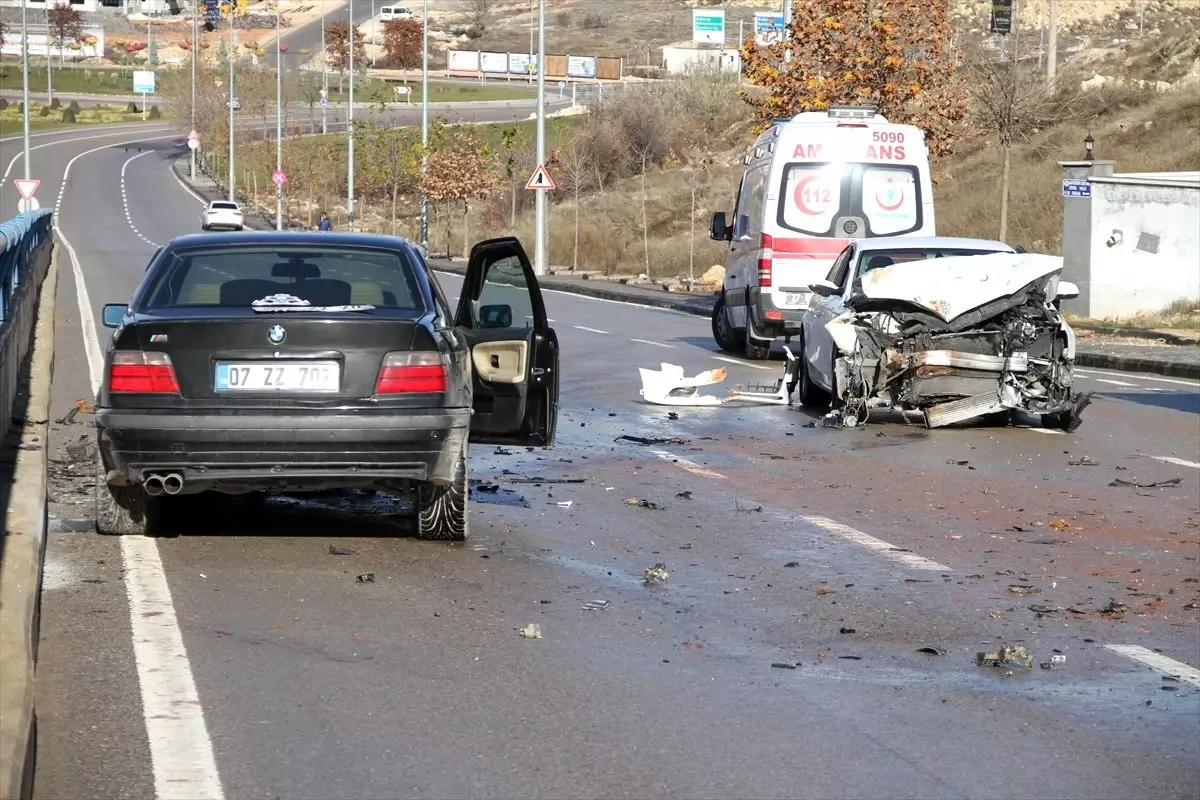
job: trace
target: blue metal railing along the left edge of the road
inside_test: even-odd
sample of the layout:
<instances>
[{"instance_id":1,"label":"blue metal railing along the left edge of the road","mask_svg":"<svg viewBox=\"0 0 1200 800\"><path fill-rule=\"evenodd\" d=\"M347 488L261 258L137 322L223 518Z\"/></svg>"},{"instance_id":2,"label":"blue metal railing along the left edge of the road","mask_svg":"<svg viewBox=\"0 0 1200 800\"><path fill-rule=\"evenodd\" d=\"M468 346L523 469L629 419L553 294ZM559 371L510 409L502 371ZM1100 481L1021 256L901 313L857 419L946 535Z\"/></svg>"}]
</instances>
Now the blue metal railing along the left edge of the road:
<instances>
[{"instance_id":1,"label":"blue metal railing along the left edge of the road","mask_svg":"<svg viewBox=\"0 0 1200 800\"><path fill-rule=\"evenodd\" d=\"M13 419L22 366L34 338L37 296L54 248L53 211L0 223L0 431Z\"/></svg>"}]
</instances>

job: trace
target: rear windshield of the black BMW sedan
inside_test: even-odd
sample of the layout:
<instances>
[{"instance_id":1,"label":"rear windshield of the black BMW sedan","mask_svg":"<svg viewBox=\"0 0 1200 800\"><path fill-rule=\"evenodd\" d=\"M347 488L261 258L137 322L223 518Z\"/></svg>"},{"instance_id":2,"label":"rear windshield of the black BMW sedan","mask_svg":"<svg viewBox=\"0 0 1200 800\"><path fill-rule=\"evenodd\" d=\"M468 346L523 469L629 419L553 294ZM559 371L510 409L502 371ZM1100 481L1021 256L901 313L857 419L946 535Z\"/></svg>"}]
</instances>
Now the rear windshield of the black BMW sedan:
<instances>
[{"instance_id":1,"label":"rear windshield of the black BMW sedan","mask_svg":"<svg viewBox=\"0 0 1200 800\"><path fill-rule=\"evenodd\" d=\"M142 309L250 308L292 295L312 306L370 305L427 311L413 264L401 251L371 247L227 245L164 253Z\"/></svg>"}]
</instances>

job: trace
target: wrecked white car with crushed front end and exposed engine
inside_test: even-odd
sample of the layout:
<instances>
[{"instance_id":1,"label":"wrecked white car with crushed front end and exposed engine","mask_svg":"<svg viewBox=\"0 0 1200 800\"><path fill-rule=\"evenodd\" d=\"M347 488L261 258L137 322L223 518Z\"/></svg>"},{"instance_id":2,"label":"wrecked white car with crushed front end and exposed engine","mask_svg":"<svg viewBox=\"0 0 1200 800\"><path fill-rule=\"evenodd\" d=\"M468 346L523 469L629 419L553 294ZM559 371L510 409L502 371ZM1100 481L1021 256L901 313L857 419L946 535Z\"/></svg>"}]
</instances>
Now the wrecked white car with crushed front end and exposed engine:
<instances>
[{"instance_id":1,"label":"wrecked white car with crushed front end and exposed engine","mask_svg":"<svg viewBox=\"0 0 1200 800\"><path fill-rule=\"evenodd\" d=\"M1010 411L1074 431L1075 332L1062 259L971 239L860 240L834 261L802 323L799 402L862 425L872 409L942 427Z\"/></svg>"}]
</instances>

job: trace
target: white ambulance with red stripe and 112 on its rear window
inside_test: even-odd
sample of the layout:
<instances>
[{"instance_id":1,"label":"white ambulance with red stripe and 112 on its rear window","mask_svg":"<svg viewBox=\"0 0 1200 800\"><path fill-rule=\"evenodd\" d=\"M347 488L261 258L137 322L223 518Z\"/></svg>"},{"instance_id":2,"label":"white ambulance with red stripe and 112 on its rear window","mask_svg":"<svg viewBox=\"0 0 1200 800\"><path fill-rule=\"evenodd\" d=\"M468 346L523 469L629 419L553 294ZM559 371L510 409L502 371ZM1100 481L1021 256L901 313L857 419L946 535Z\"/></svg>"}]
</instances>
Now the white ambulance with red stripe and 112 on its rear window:
<instances>
[{"instance_id":1,"label":"white ambulance with red stripe and 112 on its rear window","mask_svg":"<svg viewBox=\"0 0 1200 800\"><path fill-rule=\"evenodd\" d=\"M809 284L851 239L935 235L925 134L872 107L776 120L743 163L732 224L719 211L709 230L730 242L713 337L731 353L762 360L799 333Z\"/></svg>"}]
</instances>

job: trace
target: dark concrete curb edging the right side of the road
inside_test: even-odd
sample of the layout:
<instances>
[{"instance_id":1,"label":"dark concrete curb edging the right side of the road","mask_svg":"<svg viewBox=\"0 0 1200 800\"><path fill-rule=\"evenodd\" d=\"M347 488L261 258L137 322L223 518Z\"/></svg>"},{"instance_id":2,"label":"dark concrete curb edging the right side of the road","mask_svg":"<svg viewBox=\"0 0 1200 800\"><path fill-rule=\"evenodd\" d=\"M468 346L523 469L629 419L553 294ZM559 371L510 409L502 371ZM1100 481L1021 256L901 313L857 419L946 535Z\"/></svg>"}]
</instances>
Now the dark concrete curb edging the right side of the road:
<instances>
[{"instance_id":1,"label":"dark concrete curb edging the right side of the road","mask_svg":"<svg viewBox=\"0 0 1200 800\"><path fill-rule=\"evenodd\" d=\"M442 272L450 272L452 275L466 275L467 269L458 266L457 264L446 261L444 259L430 259L430 264L433 269ZM598 279L596 285L590 285L589 283L566 283L563 281L556 281L553 276L544 277L540 285L545 290L550 291L565 291L568 294L577 294L587 297L596 297L600 300L614 300L618 302L628 302L636 306L648 306L650 308L667 308L670 311L678 311L684 314L694 314L696 317L709 317L713 313L713 301L707 296L674 296L670 291L656 291L654 289L638 289L636 287L629 287L628 289L619 289L617 284L604 285L604 281ZM623 284L622 284L623 285ZM1178 342L1172 342L1172 344L1178 344L1178 347L1194 347L1195 342L1186 339L1183 337L1170 337L1156 333L1153 331L1144 331L1145 336L1138 336L1130 333L1127 329L1104 329L1096 326L1082 326L1084 330L1096 330L1096 331L1112 331L1117 336L1135 336L1136 338L1154 338L1172 342L1174 338L1178 338ZM1138 330L1138 329L1132 329ZM1141 333L1142 331L1139 331ZM1170 378L1189 378L1200 379L1200 365L1189 361L1168 361L1165 359L1135 359L1129 356L1120 355L1108 355L1104 353L1086 353L1075 350L1075 365L1080 367L1093 367L1100 369L1117 369L1120 372L1142 372L1154 375L1166 375Z\"/></svg>"}]
</instances>

